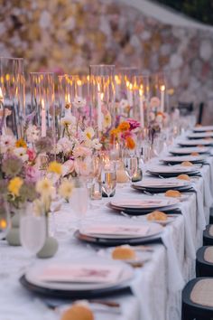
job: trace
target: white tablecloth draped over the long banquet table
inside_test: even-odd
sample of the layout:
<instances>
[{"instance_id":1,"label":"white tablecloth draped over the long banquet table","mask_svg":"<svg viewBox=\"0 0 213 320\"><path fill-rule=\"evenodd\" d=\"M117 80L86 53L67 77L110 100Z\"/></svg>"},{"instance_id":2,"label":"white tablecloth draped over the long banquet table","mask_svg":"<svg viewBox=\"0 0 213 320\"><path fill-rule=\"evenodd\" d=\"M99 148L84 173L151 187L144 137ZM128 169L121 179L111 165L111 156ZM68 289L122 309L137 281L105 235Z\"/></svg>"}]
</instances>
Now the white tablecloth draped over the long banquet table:
<instances>
[{"instance_id":1,"label":"white tablecloth draped over the long banquet table","mask_svg":"<svg viewBox=\"0 0 213 320\"><path fill-rule=\"evenodd\" d=\"M158 159L153 160L155 163L157 161ZM162 233L165 233L165 237L162 236L162 239L165 240L164 244L167 239L167 245L152 244L151 259L144 263L144 267L135 269L129 293L106 298L106 300L117 301L121 306L122 313L112 315L113 319L181 319L181 288L190 278L195 277L195 259L193 259L192 251L193 247L198 249L202 245L203 228L200 228L198 219L201 214L200 209L204 210L205 221L208 224L209 207L212 202L213 157L208 157L208 165L203 165L200 173L201 177L193 178L197 193L187 193L188 198L184 202L187 217L186 214L178 214L171 224L164 227ZM197 194L199 194L199 199ZM147 197L143 193L135 192L128 184L118 185L115 198L124 198L126 195L133 198ZM92 209L88 211L84 223L94 221L120 223L130 219L119 213L111 212L105 206L106 202L108 202L106 198L93 202ZM144 217L141 216L135 220L132 218L131 221L138 223L144 221ZM0 318L2 320L60 319L60 308L50 309L46 306L45 300L26 291L19 283L19 278L24 270L35 262L44 264L50 261L106 257L103 249L97 250L73 237L76 223L69 204L64 204L60 212L54 214L55 236L59 240L60 247L55 257L48 261L30 257L22 247L10 247L4 240L0 241ZM192 240L190 248L189 243L186 243L189 242L186 239L187 232L190 232ZM107 257L106 259L109 259ZM177 270L180 271L184 280L179 284L175 284ZM109 315L97 313L96 320L108 319Z\"/></svg>"}]
</instances>

